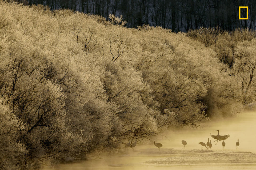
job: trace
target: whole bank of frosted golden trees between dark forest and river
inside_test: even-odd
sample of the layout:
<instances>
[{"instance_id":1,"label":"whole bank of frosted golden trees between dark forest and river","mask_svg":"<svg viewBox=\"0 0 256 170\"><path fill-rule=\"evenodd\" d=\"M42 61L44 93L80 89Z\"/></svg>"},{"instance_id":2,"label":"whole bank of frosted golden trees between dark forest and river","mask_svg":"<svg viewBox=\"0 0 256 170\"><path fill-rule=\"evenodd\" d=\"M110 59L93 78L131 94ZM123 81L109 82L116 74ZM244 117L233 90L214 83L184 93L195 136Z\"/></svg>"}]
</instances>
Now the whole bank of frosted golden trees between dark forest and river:
<instances>
[{"instance_id":1,"label":"whole bank of frosted golden trees between dark forest and river","mask_svg":"<svg viewBox=\"0 0 256 170\"><path fill-rule=\"evenodd\" d=\"M0 169L119 152L255 101L255 32L125 24L0 1Z\"/></svg>"}]
</instances>

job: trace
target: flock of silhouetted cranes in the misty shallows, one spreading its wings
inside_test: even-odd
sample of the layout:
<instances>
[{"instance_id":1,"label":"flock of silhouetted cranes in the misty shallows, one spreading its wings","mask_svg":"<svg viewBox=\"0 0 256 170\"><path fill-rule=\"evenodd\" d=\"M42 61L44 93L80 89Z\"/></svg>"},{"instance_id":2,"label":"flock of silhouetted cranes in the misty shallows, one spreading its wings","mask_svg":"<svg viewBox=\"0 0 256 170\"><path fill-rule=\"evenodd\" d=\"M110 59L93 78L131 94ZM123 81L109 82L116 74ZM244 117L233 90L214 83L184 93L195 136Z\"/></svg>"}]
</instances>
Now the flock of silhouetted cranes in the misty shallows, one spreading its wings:
<instances>
[{"instance_id":1,"label":"flock of silhouetted cranes in the misty shallows, one spreading its wings","mask_svg":"<svg viewBox=\"0 0 256 170\"><path fill-rule=\"evenodd\" d=\"M210 135L211 135L212 138L216 139L217 143L218 143L218 141L222 141L222 146L223 146L223 149L224 149L224 147L226 145L224 140L229 138L229 134L227 134L227 135L219 135L219 130L215 130L215 131L218 131L217 135L212 135L212 134L210 134ZM134 150L134 147L137 145L137 138L135 139L135 142L132 143L132 144L131 144L131 139L129 139L128 143L124 143L124 142L122 142L122 143L125 145L125 147L128 148L130 146L130 148L132 148ZM182 143L182 145L184 146L184 149L185 149L185 145L187 145L187 142L182 140L181 143ZM215 145L217 145L217 143ZM203 147L206 147L207 149L210 148L210 150L211 150L212 144L211 144L211 140L209 142L209 138L208 138L208 142L206 143L206 145L205 145L204 142L199 142L199 144L202 145L201 149L203 149ZM160 151L160 148L163 146L161 143L155 143L155 142L154 142L154 145L156 147L158 147L159 151ZM237 139L237 142L236 142L235 145L237 146L237 149L238 149L238 146L239 146L239 140L238 139Z\"/></svg>"}]
</instances>

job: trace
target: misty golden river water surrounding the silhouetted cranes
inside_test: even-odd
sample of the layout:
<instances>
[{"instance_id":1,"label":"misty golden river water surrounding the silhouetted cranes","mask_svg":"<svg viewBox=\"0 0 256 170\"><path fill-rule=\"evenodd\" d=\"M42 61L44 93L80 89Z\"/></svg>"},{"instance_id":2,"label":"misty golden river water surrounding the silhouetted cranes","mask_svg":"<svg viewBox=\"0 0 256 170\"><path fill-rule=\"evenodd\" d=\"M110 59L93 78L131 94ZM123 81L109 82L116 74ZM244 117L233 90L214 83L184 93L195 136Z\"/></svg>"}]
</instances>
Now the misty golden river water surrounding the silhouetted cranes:
<instances>
[{"instance_id":1,"label":"misty golden river water surrounding the silhouetted cranes","mask_svg":"<svg viewBox=\"0 0 256 170\"><path fill-rule=\"evenodd\" d=\"M207 122L201 129L181 129L166 132L167 139L158 139L163 144L158 148L153 145L139 145L135 151L129 149L126 155L105 157L102 160L92 160L82 163L59 164L46 167L53 169L256 169L255 129L256 113L246 112L229 120ZM215 139L210 133L217 135L230 134L225 140L223 150L222 142L215 145ZM211 140L212 150L201 150L199 142ZM235 143L239 139L239 149ZM187 142L185 149L181 143Z\"/></svg>"}]
</instances>

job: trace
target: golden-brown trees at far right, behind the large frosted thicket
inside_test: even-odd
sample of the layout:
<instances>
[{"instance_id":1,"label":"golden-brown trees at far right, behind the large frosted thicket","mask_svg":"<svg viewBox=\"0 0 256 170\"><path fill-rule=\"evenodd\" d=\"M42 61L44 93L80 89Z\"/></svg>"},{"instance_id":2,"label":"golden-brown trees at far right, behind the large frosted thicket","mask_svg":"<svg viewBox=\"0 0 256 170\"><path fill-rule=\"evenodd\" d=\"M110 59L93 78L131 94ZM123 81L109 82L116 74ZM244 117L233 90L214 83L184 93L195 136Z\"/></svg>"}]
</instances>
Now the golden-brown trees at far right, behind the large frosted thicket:
<instances>
[{"instance_id":1,"label":"golden-brown trees at far right, behind the large frosted thicket","mask_svg":"<svg viewBox=\"0 0 256 170\"><path fill-rule=\"evenodd\" d=\"M256 100L254 30L243 28L227 32L218 28L200 28L190 30L187 36L212 48L219 61L229 66L236 101L249 104Z\"/></svg>"}]
</instances>

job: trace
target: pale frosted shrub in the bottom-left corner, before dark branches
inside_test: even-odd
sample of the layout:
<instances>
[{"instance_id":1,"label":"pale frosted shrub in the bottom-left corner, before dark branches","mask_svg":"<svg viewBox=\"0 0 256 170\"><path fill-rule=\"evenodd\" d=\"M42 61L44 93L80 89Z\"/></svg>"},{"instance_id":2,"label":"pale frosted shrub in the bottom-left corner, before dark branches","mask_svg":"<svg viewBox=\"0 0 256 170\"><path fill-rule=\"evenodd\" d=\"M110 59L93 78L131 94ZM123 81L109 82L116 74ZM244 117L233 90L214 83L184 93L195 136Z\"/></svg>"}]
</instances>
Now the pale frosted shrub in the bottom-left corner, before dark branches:
<instances>
[{"instance_id":1,"label":"pale frosted shrub in the bottom-left corner, before dark branches","mask_svg":"<svg viewBox=\"0 0 256 170\"><path fill-rule=\"evenodd\" d=\"M0 127L0 169L19 169L24 165L26 150L17 135L24 129L24 124L3 98L0 98Z\"/></svg>"}]
</instances>

